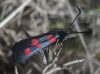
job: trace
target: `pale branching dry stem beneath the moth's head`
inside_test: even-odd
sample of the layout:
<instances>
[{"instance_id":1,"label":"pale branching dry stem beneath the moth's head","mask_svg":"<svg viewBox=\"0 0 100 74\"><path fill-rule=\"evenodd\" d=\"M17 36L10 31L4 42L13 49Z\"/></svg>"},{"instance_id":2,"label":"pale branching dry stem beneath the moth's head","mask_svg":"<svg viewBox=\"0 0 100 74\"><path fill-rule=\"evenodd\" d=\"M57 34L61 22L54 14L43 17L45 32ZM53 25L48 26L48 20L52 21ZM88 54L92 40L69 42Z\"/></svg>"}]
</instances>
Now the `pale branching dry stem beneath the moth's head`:
<instances>
[{"instance_id":1,"label":"pale branching dry stem beneath the moth's head","mask_svg":"<svg viewBox=\"0 0 100 74\"><path fill-rule=\"evenodd\" d=\"M62 45L62 44L60 44L60 45ZM57 49L56 47L59 47L59 45L55 45L55 49ZM61 63L59 63L59 61L58 61L58 57L59 57L59 53L60 53L60 51L61 51L62 48L58 48L58 49L59 49L59 50L58 50L58 52L55 54L55 58L53 59L53 61L52 61L50 64L48 64L48 65L45 66L45 68L44 68L43 71L42 71L42 74L51 74L51 73L53 73L53 72L55 72L55 71L58 71L58 70L61 70L61 69L68 70L68 71L70 71L72 74L74 74L72 70L70 70L69 68L67 68L67 66L84 61L84 59L81 59L81 60L75 60L75 61L72 61L72 62L68 62L68 63L65 63L65 64L61 64ZM51 68L50 68L50 67L51 67ZM49 69L49 68L50 68L50 69ZM49 70L48 70L48 69L49 69Z\"/></svg>"}]
</instances>

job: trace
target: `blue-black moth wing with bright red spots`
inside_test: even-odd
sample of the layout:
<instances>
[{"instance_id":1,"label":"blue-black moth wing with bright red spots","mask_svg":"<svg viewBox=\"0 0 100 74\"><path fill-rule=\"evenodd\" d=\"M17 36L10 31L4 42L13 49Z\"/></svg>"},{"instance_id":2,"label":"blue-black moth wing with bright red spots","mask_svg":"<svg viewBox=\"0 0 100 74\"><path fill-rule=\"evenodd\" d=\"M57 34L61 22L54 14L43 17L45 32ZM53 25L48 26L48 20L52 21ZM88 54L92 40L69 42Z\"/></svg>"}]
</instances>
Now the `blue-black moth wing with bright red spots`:
<instances>
[{"instance_id":1,"label":"blue-black moth wing with bright red spots","mask_svg":"<svg viewBox=\"0 0 100 74\"><path fill-rule=\"evenodd\" d=\"M32 38L21 40L14 44L12 47L12 59L14 62L22 62L29 57L31 57L34 53L49 46L51 43L49 38L51 37L51 41L55 39L52 43L56 42L56 38L51 33L45 33L39 36L35 36Z\"/></svg>"}]
</instances>

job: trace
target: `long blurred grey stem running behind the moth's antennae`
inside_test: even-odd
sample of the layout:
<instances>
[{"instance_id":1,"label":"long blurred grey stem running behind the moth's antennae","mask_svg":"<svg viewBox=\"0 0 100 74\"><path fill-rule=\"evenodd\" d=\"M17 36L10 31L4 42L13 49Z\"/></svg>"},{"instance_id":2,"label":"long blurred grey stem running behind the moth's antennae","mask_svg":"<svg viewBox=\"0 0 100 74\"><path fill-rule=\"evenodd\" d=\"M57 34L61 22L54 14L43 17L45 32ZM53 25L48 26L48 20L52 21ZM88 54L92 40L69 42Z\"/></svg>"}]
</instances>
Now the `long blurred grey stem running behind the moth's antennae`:
<instances>
[{"instance_id":1,"label":"long blurred grey stem running behind the moth's antennae","mask_svg":"<svg viewBox=\"0 0 100 74\"><path fill-rule=\"evenodd\" d=\"M67 2L66 2L67 7L68 7L68 9L69 9L69 12L71 13L72 19L74 19L74 18L75 18L75 13L73 12L72 7L71 7L69 1L68 1L68 0L66 0L66 1L67 1ZM76 28L76 30L77 30L78 32L81 31L81 30L80 30L80 27L79 27L79 25L78 25L77 20L75 21L75 28ZM87 59L88 59L88 61L89 61L90 73L93 74L94 69L93 69L93 63L92 63L92 56L90 55L89 48L88 48L88 46L87 46L87 44L86 44L86 42L85 42L85 39L84 39L83 35L82 35L82 34L78 34L78 35L79 35L80 40L81 40L81 42L82 42L82 44L83 44L83 47L84 47L84 49L85 49L85 51L86 51Z\"/></svg>"}]
</instances>

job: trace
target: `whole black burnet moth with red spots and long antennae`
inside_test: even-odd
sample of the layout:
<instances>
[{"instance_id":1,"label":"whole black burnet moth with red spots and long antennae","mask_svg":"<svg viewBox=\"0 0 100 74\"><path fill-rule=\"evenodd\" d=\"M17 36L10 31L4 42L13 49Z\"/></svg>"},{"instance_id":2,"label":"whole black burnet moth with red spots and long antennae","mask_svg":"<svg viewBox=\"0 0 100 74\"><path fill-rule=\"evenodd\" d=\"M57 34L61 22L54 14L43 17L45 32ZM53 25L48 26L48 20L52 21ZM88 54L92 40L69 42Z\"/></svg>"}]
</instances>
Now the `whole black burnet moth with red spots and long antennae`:
<instances>
[{"instance_id":1,"label":"whole black burnet moth with red spots and long antennae","mask_svg":"<svg viewBox=\"0 0 100 74\"><path fill-rule=\"evenodd\" d=\"M78 7L77 7L78 8ZM33 54L38 52L39 50L43 50L43 48L48 47L49 45L60 43L66 40L69 36L69 34L73 33L85 33L84 32L73 32L70 33L70 30L73 26L74 21L76 18L81 14L81 10L78 8L79 13L71 23L69 29L64 32L60 29L53 29L47 33L31 37L26 31L25 34L29 37L27 39L21 40L17 43L15 43L12 47L12 59L14 62L22 62L29 57L31 57Z\"/></svg>"}]
</instances>

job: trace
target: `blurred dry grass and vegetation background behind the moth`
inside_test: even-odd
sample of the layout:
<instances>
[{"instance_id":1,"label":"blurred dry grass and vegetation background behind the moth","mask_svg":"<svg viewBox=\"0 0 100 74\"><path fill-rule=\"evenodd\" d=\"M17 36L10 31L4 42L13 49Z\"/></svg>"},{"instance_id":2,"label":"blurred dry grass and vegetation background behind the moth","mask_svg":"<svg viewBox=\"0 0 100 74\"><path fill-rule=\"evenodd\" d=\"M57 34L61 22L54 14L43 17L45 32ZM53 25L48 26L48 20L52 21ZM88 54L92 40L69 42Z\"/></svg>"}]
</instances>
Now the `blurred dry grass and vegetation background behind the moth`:
<instances>
[{"instance_id":1,"label":"blurred dry grass and vegetation background behind the moth","mask_svg":"<svg viewBox=\"0 0 100 74\"><path fill-rule=\"evenodd\" d=\"M24 2L25 0L0 0L0 25ZM88 49L84 48L77 34L70 35L69 39L63 42L58 58L59 62L67 63L77 59L85 59L84 62L70 65L68 68L72 68L75 74L100 73L100 1L32 0L0 28L0 74L15 74L15 66L19 74L42 73L45 66L39 52L24 62L14 63L12 61L12 46L27 38L21 28L25 29L32 37L46 33L52 28L66 31L73 21L66 2L69 2L75 16L78 13L75 5L81 9L82 14L77 19L80 29L83 31L89 27L93 33L83 34ZM72 31L77 31L75 26L73 26ZM52 49L50 47L50 50ZM70 72L60 70L56 74L70 74Z\"/></svg>"}]
</instances>

